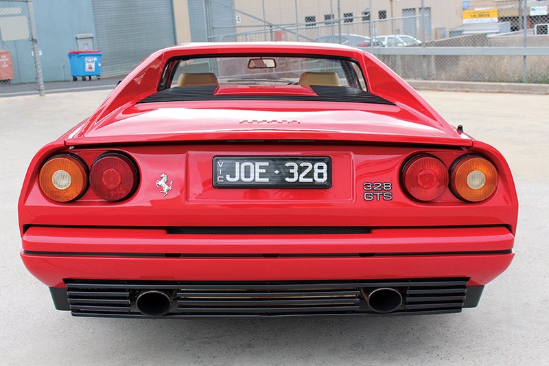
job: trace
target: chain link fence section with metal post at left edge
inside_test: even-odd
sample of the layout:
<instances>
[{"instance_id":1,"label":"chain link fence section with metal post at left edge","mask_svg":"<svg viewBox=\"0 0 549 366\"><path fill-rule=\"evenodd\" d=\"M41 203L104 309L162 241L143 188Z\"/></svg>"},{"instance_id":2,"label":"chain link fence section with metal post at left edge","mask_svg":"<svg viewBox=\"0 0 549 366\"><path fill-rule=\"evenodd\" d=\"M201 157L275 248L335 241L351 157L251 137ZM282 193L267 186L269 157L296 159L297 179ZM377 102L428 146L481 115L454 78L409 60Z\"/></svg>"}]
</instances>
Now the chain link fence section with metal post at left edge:
<instances>
[{"instance_id":1,"label":"chain link fence section with metal post at left edge","mask_svg":"<svg viewBox=\"0 0 549 366\"><path fill-rule=\"evenodd\" d=\"M0 0L0 88L36 84L44 93L32 1ZM34 42L33 42L34 40Z\"/></svg>"}]
</instances>

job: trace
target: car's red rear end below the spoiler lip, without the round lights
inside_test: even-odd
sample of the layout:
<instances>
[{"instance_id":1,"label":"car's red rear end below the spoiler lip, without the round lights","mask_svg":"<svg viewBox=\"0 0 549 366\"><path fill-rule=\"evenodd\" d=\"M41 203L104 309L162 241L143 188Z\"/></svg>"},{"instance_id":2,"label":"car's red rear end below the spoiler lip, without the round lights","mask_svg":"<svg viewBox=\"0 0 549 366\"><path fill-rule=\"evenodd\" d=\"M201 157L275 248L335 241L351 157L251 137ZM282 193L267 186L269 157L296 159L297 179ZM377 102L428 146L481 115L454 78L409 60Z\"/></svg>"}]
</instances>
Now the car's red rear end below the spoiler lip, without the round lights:
<instances>
[{"instance_id":1,"label":"car's red rear end below the spoiler lip, without the round lights","mask_svg":"<svg viewBox=\"0 0 549 366\"><path fill-rule=\"evenodd\" d=\"M476 306L482 286L513 257L505 166L496 166L498 187L481 203L461 200L449 185L436 200L417 201L402 183L415 157L449 168L476 151L250 142L70 153L91 173L94 161L113 155L139 172L125 201L88 188L56 205L34 172L23 216L40 225L25 227L23 261L51 288L56 306L73 314L138 316L146 290L165 293L174 317L373 314L379 309L368 295L380 288L390 290L379 295L401 296L389 301L393 314L455 312ZM215 187L212 165L222 157L299 164L328 157L331 187ZM162 173L167 195L156 187Z\"/></svg>"}]
</instances>

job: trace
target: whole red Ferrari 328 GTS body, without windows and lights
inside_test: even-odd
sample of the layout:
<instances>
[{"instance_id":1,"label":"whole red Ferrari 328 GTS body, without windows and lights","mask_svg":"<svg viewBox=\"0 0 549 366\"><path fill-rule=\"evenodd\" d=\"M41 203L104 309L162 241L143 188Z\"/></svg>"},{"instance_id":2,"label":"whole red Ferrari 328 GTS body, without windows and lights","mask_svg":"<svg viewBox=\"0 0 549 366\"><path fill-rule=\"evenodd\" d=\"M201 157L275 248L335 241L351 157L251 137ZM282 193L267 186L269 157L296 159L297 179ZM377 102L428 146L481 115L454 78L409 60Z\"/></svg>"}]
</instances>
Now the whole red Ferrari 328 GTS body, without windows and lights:
<instances>
[{"instance_id":1,"label":"whole red Ferrari 328 GTS body, without windows and lights","mask_svg":"<svg viewBox=\"0 0 549 366\"><path fill-rule=\"evenodd\" d=\"M230 85L215 93L237 102L139 103L158 92L170 60L234 54L353 59L369 93L390 104L292 100L312 92ZM290 98L248 98L272 94ZM66 152L88 168L105 152L127 155L139 171L135 193L109 202L88 189L75 201L52 201L38 175ZM212 159L224 155L330 157L331 187L218 189ZM449 187L434 201L414 200L402 170L418 155L448 169L481 155L498 172L497 188L478 203ZM173 181L167 195L156 182L161 173ZM390 183L390 201L366 190L377 182ZM19 201L21 257L56 308L80 316L459 312L476 306L483 286L511 263L517 207L500 152L450 126L366 52L307 43L179 45L143 60L89 119L36 154ZM365 229L345 229L357 227ZM137 307L143 293L148 310ZM169 308L160 311L165 298Z\"/></svg>"}]
</instances>

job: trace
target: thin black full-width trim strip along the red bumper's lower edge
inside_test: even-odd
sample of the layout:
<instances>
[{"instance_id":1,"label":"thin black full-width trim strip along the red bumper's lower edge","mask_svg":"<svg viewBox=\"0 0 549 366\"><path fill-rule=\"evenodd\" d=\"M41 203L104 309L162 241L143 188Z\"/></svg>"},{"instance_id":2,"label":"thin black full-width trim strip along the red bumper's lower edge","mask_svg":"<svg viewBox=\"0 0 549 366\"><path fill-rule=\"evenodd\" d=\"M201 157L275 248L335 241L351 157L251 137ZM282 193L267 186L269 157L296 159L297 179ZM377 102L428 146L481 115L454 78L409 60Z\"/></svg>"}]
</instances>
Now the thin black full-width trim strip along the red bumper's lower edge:
<instances>
[{"instance_id":1,"label":"thin black full-width trim strip along the red bumper's lower edge","mask_svg":"<svg viewBox=\"0 0 549 366\"><path fill-rule=\"evenodd\" d=\"M151 258L367 258L367 257L408 257L432 255L498 255L511 254L512 249L501 251L440 251L417 253L296 253L296 254L203 254L203 253L104 253L104 252L65 252L65 251L23 251L28 255L62 255L70 257L151 257Z\"/></svg>"}]
</instances>

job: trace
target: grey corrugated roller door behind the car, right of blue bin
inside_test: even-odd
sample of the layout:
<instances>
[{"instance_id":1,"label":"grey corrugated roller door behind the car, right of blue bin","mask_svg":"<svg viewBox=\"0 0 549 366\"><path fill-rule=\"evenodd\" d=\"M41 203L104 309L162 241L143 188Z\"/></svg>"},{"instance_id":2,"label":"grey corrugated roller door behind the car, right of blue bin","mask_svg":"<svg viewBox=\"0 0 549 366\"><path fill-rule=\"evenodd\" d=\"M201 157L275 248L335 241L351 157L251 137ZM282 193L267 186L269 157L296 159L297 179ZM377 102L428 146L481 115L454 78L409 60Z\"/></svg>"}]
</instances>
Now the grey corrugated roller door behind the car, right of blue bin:
<instances>
[{"instance_id":1,"label":"grey corrugated roller door behind the car, right of blue bin","mask_svg":"<svg viewBox=\"0 0 549 366\"><path fill-rule=\"evenodd\" d=\"M102 74L128 73L152 52L176 44L172 0L92 0Z\"/></svg>"}]
</instances>

